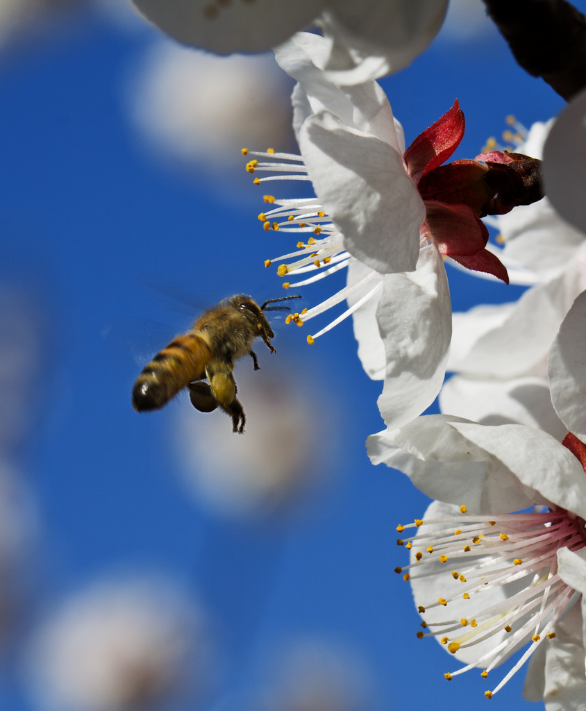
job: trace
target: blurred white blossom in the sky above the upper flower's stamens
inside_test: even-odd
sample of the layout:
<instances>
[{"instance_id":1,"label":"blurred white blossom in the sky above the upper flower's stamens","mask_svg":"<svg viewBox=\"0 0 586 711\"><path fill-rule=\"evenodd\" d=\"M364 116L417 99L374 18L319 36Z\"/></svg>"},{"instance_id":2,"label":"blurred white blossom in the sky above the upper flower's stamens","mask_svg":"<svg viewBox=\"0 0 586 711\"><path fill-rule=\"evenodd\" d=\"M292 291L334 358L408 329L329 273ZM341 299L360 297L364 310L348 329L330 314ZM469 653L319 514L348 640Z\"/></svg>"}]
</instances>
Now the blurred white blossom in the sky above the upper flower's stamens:
<instances>
[{"instance_id":1,"label":"blurred white blossom in the sky above the upper flower's stamens","mask_svg":"<svg viewBox=\"0 0 586 711\"><path fill-rule=\"evenodd\" d=\"M217 57L159 41L134 73L129 102L162 154L225 180L244 145L291 143L291 89L272 54Z\"/></svg>"}]
</instances>

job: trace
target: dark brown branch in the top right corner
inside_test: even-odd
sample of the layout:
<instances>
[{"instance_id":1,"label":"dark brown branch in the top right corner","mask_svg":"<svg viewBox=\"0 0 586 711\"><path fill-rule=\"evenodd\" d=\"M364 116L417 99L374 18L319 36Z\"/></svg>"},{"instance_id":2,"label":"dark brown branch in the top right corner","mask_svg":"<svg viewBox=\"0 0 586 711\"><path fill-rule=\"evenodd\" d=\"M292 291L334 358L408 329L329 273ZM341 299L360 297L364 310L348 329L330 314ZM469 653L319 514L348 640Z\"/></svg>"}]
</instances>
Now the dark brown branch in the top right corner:
<instances>
[{"instance_id":1,"label":"dark brown branch in the top right corner","mask_svg":"<svg viewBox=\"0 0 586 711\"><path fill-rule=\"evenodd\" d=\"M566 101L586 87L586 18L565 0L484 0L524 70Z\"/></svg>"}]
</instances>

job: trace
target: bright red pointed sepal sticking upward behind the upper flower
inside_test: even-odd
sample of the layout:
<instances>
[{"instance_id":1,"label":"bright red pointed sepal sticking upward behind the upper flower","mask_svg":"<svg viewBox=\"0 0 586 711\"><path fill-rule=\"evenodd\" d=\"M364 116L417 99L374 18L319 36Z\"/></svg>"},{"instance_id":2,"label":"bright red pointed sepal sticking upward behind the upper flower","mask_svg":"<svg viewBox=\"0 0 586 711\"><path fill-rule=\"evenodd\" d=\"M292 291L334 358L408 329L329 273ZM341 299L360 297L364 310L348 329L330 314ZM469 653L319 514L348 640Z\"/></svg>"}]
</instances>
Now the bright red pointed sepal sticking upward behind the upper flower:
<instances>
[{"instance_id":1,"label":"bright red pointed sepal sticking upward behind the upper flower","mask_svg":"<svg viewBox=\"0 0 586 711\"><path fill-rule=\"evenodd\" d=\"M432 124L412 142L403 158L407 172L415 181L425 173L447 161L464 136L464 112L458 100L435 124Z\"/></svg>"}]
</instances>

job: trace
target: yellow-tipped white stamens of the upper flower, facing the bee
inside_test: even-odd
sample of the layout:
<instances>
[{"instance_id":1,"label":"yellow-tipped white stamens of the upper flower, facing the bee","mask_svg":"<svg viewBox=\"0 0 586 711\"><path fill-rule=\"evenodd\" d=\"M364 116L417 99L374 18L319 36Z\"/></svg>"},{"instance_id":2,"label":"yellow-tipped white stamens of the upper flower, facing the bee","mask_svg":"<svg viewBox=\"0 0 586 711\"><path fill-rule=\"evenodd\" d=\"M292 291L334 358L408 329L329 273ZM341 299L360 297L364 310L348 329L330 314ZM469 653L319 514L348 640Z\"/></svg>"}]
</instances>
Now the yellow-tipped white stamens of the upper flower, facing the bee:
<instances>
[{"instance_id":1,"label":"yellow-tipped white stamens of the upper flower, facing the bee","mask_svg":"<svg viewBox=\"0 0 586 711\"><path fill-rule=\"evenodd\" d=\"M309 181L307 169L303 164L302 156L289 153L275 153L273 149L267 149L265 152L249 151L243 149L244 156L255 156L246 164L246 170L249 173L268 172L269 176L258 178L255 177L254 183L260 185L265 181ZM258 159L271 159L270 161L259 161ZM264 196L265 203L275 205L271 210L267 210L258 215L258 219L262 222L262 227L265 231L281 231L295 232L297 235L303 235L302 240L297 242L297 250L289 252L280 257L265 261L265 267L270 267L274 262L284 262L279 264L277 274L279 277L284 277L287 274L306 274L310 276L306 279L301 279L297 282L284 282L283 287L305 287L308 284L313 284L329 277L330 274L335 274L341 269L348 267L348 264L353 259L346 252L342 235L336 229L334 223L326 214L322 205L316 197L313 198L292 198L292 199L277 199L272 195ZM309 235L309 237L307 237ZM301 235L299 235L301 236ZM374 275L375 276L375 275ZM288 316L286 321L288 324L294 323L297 326L302 326L306 321L313 319L315 316L323 314L324 311L331 309L332 306L340 304L341 301L347 299L348 296L363 289L368 282L373 281L374 277L368 275L356 284L346 286L339 292L331 296L331 298L322 301L321 304L314 306L313 309L304 309L300 314L292 314ZM331 322L321 331L307 336L308 343L314 343L314 340L323 335L331 328L337 326L341 321L353 314L356 309L359 309L368 299L380 289L381 284L378 283L371 289L366 296L359 299L351 308L346 309L337 319Z\"/></svg>"}]
</instances>

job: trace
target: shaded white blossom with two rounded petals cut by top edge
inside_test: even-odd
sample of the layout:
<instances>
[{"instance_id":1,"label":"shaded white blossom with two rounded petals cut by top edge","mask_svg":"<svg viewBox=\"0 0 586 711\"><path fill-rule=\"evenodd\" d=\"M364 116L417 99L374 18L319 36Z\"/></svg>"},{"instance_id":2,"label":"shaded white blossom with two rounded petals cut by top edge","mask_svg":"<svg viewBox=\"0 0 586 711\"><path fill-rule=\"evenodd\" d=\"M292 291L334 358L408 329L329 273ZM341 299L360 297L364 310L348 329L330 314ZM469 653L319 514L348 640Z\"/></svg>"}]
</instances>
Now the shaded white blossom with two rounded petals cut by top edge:
<instances>
[{"instance_id":1,"label":"shaded white blossom with two rounded petals cut by top edge","mask_svg":"<svg viewBox=\"0 0 586 711\"><path fill-rule=\"evenodd\" d=\"M320 70L350 85L397 72L439 31L447 0L133 0L161 30L220 54L275 47L313 20L328 50Z\"/></svg>"}]
</instances>

